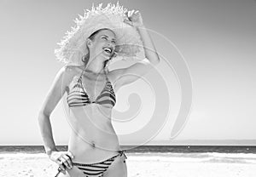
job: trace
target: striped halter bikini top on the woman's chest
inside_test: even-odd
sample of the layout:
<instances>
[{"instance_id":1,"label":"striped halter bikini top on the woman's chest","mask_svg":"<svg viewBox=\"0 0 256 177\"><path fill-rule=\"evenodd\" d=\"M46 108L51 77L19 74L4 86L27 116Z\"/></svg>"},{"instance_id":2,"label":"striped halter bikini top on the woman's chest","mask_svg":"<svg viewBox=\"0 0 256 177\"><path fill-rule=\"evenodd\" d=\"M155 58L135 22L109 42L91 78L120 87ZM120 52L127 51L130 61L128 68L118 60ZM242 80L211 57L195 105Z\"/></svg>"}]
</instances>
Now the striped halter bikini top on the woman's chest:
<instances>
[{"instance_id":1,"label":"striped halter bikini top on the woman's chest","mask_svg":"<svg viewBox=\"0 0 256 177\"><path fill-rule=\"evenodd\" d=\"M84 70L85 71L85 70ZM96 97L96 100L91 101L84 85L82 83L82 77L84 75L82 72L79 79L69 88L67 93L67 104L69 107L75 106L87 106L92 103L99 104L104 107L113 107L115 105L115 94L111 82L108 80L106 71L104 70L106 76L105 87L102 89L102 92Z\"/></svg>"}]
</instances>

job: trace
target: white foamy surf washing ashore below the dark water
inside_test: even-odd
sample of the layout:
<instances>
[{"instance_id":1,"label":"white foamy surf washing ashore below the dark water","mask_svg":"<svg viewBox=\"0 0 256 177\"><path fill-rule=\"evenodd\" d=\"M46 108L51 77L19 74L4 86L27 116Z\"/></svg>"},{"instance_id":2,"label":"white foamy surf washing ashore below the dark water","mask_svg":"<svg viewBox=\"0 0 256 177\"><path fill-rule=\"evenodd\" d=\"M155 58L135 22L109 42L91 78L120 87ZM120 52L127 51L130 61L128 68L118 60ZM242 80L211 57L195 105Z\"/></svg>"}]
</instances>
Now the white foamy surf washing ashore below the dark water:
<instances>
[{"instance_id":1,"label":"white foamy surf washing ashore below the dark water","mask_svg":"<svg viewBox=\"0 0 256 177\"><path fill-rule=\"evenodd\" d=\"M160 161L172 163L255 163L256 154L249 153L126 153L131 161ZM0 159L40 159L48 158L45 153L4 153Z\"/></svg>"}]
</instances>

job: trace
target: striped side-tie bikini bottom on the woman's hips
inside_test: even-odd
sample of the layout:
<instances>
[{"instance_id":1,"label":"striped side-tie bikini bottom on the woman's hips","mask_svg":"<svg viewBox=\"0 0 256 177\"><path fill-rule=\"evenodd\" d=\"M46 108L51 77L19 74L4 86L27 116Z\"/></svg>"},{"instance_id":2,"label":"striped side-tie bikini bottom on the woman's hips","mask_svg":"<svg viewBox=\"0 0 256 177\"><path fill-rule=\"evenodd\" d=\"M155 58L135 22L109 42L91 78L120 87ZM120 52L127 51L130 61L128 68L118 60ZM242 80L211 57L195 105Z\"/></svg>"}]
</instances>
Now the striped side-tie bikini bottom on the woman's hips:
<instances>
[{"instance_id":1,"label":"striped side-tie bikini bottom on the woman's hips","mask_svg":"<svg viewBox=\"0 0 256 177\"><path fill-rule=\"evenodd\" d=\"M82 172L85 174L84 177L102 177L103 173L107 171L109 166L113 163L114 159L118 156L124 157L124 163L125 159L127 158L123 151L118 151L119 153L113 157L108 158L107 160L104 160L100 163L90 163L90 164L84 164L84 163L73 163L73 166L77 166ZM58 169L59 172L61 168Z\"/></svg>"}]
</instances>

